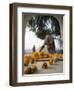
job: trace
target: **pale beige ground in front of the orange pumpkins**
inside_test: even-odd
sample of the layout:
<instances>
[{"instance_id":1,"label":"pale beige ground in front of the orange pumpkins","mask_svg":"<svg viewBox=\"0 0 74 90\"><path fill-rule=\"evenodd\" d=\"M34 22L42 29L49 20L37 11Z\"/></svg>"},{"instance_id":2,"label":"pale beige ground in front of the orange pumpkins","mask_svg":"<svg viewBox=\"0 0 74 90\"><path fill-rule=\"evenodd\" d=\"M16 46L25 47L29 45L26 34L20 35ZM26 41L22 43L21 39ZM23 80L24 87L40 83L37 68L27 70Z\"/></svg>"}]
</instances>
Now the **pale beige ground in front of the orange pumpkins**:
<instances>
[{"instance_id":1,"label":"pale beige ground in front of the orange pumpkins","mask_svg":"<svg viewBox=\"0 0 74 90\"><path fill-rule=\"evenodd\" d=\"M48 61L41 61L41 62L36 62L36 66L38 68L37 72L35 74L51 74L51 73L62 73L63 72L63 61L58 61L54 65L49 65L47 69L42 68L42 64L46 62L48 64ZM25 67L26 68L26 67ZM24 69L25 69L24 68Z\"/></svg>"}]
</instances>

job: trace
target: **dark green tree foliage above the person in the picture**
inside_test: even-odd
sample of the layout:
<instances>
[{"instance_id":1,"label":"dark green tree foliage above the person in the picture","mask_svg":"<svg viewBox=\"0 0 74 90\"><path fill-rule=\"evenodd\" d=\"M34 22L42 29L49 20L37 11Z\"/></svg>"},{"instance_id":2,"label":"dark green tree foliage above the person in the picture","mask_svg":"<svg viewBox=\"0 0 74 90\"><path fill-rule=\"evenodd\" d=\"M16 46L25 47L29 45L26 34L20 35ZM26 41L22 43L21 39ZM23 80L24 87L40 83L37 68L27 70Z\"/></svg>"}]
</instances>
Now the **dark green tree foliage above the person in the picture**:
<instances>
[{"instance_id":1,"label":"dark green tree foliage above the person in the picture","mask_svg":"<svg viewBox=\"0 0 74 90\"><path fill-rule=\"evenodd\" d=\"M44 39L47 34L60 35L59 22L54 16L32 16L29 27L40 39Z\"/></svg>"}]
</instances>

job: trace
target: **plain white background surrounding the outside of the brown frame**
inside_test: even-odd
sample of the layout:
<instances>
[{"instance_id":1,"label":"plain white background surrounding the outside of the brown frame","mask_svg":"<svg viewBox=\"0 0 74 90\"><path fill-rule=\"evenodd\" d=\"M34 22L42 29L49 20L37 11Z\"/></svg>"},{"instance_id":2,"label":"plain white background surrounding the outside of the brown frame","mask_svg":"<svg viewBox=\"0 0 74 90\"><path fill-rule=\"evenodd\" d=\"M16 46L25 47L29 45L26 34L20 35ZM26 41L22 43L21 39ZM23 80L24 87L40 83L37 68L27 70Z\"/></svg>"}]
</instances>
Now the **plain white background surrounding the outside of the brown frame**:
<instances>
[{"instance_id":1,"label":"plain white background surrounding the outside of the brown frame","mask_svg":"<svg viewBox=\"0 0 74 90\"><path fill-rule=\"evenodd\" d=\"M0 90L73 90L74 83L28 87L9 86L9 3L13 1L14 0L0 0ZM74 0L15 0L15 2L72 5L74 10Z\"/></svg>"}]
</instances>

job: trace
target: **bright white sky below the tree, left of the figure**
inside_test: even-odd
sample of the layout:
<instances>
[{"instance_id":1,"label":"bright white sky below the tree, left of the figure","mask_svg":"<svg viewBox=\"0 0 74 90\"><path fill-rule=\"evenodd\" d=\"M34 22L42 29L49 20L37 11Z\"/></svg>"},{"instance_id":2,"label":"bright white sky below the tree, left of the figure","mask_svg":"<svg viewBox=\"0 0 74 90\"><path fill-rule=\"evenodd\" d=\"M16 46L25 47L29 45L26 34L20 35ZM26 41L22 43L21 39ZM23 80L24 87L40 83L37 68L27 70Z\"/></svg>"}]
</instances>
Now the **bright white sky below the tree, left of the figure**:
<instances>
[{"instance_id":1,"label":"bright white sky below the tree, left of the figure","mask_svg":"<svg viewBox=\"0 0 74 90\"><path fill-rule=\"evenodd\" d=\"M33 45L35 45L36 48L39 48L40 46L42 46L44 40L37 38L34 32L29 31L28 27L26 27L25 31L26 31L25 32L25 48L26 49L32 49Z\"/></svg>"}]
</instances>

